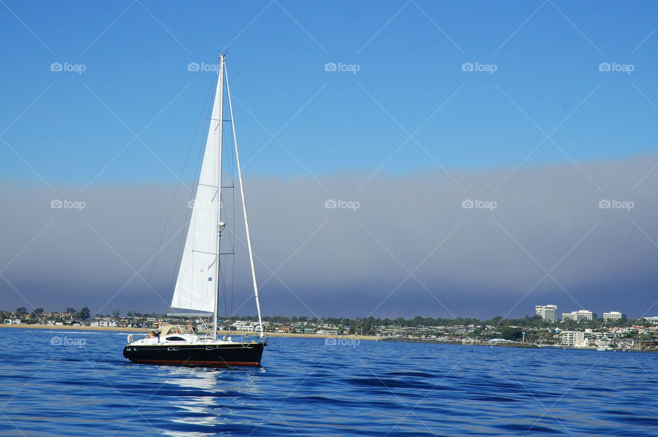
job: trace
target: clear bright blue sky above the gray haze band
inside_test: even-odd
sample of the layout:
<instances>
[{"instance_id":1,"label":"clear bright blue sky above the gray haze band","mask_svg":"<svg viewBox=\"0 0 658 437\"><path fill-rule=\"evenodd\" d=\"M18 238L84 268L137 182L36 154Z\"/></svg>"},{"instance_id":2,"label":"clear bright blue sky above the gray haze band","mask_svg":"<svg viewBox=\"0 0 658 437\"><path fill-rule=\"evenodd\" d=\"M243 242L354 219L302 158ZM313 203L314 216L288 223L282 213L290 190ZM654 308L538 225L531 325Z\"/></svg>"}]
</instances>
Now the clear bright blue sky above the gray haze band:
<instances>
[{"instance_id":1,"label":"clear bright blue sky above the gray haze band","mask_svg":"<svg viewBox=\"0 0 658 437\"><path fill-rule=\"evenodd\" d=\"M49 184L174 182L212 81L187 65L222 49L252 175L378 168L408 138L402 128L414 132L454 92L415 134L446 168L516 166L545 138L533 121L548 134L574 110L551 135L568 156L546 140L526 163L655 154L658 5L632 6L3 0L0 132L34 171L0 142L0 172L36 184L35 173ZM86 70L52 72L52 62ZM326 72L327 62L359 71ZM464 72L464 62L497 69ZM134 138L122 122L141 132L177 95L140 136L152 153L135 140L117 158ZM260 123L275 133L307 102L277 136L290 153L272 140L256 155L271 138ZM410 140L382 170L435 166Z\"/></svg>"}]
</instances>

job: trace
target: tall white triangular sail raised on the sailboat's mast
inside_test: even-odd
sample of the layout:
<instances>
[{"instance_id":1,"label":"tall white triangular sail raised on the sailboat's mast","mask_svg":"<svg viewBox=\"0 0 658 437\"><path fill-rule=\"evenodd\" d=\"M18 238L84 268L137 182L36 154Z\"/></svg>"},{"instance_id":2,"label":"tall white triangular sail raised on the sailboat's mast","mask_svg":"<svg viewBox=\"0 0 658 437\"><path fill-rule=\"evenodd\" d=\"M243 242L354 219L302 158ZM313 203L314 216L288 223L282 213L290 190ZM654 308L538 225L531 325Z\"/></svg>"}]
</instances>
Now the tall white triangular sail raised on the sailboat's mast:
<instances>
[{"instance_id":1,"label":"tall white triangular sail raised on the sailboat's mast","mask_svg":"<svg viewBox=\"0 0 658 437\"><path fill-rule=\"evenodd\" d=\"M219 158L223 71L220 68L206 151L183 249L171 308L215 312L220 208Z\"/></svg>"}]
</instances>

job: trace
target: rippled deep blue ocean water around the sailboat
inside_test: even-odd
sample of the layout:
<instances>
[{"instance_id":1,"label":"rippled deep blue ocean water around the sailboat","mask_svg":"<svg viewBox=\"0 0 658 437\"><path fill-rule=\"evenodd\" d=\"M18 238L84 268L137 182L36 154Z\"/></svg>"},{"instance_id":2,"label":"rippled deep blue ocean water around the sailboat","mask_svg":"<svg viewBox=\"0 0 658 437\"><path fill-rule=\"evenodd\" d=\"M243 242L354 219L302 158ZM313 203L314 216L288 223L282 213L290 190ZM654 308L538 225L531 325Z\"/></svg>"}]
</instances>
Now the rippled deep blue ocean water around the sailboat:
<instances>
[{"instance_id":1,"label":"rippled deep blue ocean water around the sailboat","mask_svg":"<svg viewBox=\"0 0 658 437\"><path fill-rule=\"evenodd\" d=\"M271 338L217 370L130 364L125 338L0 329L0 435L658 435L653 353Z\"/></svg>"}]
</instances>

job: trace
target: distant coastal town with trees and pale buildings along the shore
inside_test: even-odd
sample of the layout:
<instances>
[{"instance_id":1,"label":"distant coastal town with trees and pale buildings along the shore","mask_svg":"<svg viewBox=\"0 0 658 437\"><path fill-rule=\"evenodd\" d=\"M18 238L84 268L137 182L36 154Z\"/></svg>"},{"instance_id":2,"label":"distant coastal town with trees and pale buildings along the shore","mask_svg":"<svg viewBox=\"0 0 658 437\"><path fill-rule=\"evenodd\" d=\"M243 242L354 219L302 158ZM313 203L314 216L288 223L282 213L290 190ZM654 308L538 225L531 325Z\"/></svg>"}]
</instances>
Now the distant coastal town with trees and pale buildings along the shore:
<instances>
[{"instance_id":1,"label":"distant coastal town with trees and pale buildings along the shore","mask_svg":"<svg viewBox=\"0 0 658 437\"><path fill-rule=\"evenodd\" d=\"M557 305L535 305L535 315L523 319L503 319L496 316L488 321L458 317L432 319L417 316L413 319L376 319L374 317L310 318L306 316L269 316L263 319L265 333L308 336L371 336L376 340L417 342L447 342L478 345L508 345L518 347L576 347L598 350L658 351L658 316L628 319L619 311L596 312L576 310L563 312L557 318ZM207 329L198 317L182 319L164 314L140 314L129 311L121 316L112 314L91 316L88 308L76 311L44 312L36 308L27 312L0 311L5 325L70 325L72 327L158 329L166 324L193 324ZM221 332L236 334L260 331L254 316L225 317L219 323Z\"/></svg>"}]
</instances>

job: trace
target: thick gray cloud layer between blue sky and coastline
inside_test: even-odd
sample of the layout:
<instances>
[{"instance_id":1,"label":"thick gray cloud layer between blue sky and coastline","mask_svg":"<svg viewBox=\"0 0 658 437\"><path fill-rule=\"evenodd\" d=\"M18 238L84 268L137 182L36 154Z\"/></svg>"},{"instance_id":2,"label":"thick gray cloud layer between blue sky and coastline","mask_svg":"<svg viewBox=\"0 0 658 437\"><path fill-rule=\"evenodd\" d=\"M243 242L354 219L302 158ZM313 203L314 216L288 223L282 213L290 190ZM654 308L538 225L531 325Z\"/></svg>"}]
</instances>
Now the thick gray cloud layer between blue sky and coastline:
<instances>
[{"instance_id":1,"label":"thick gray cloud layer between blue sky and coastline","mask_svg":"<svg viewBox=\"0 0 658 437\"><path fill-rule=\"evenodd\" d=\"M489 318L557 303L657 315L658 171L646 176L657 159L522 167L507 179L511 169L378 174L361 189L367 173L319 177L327 189L310 176L249 178L263 311ZM188 193L164 234L154 292L134 273L149 277L175 186L1 185L1 308L167 309ZM86 208L51 209L53 199ZM329 199L359 208L325 208ZM465 199L496 208L462 208ZM601 209L602 199L633 208ZM233 309L253 314L236 225Z\"/></svg>"}]
</instances>

